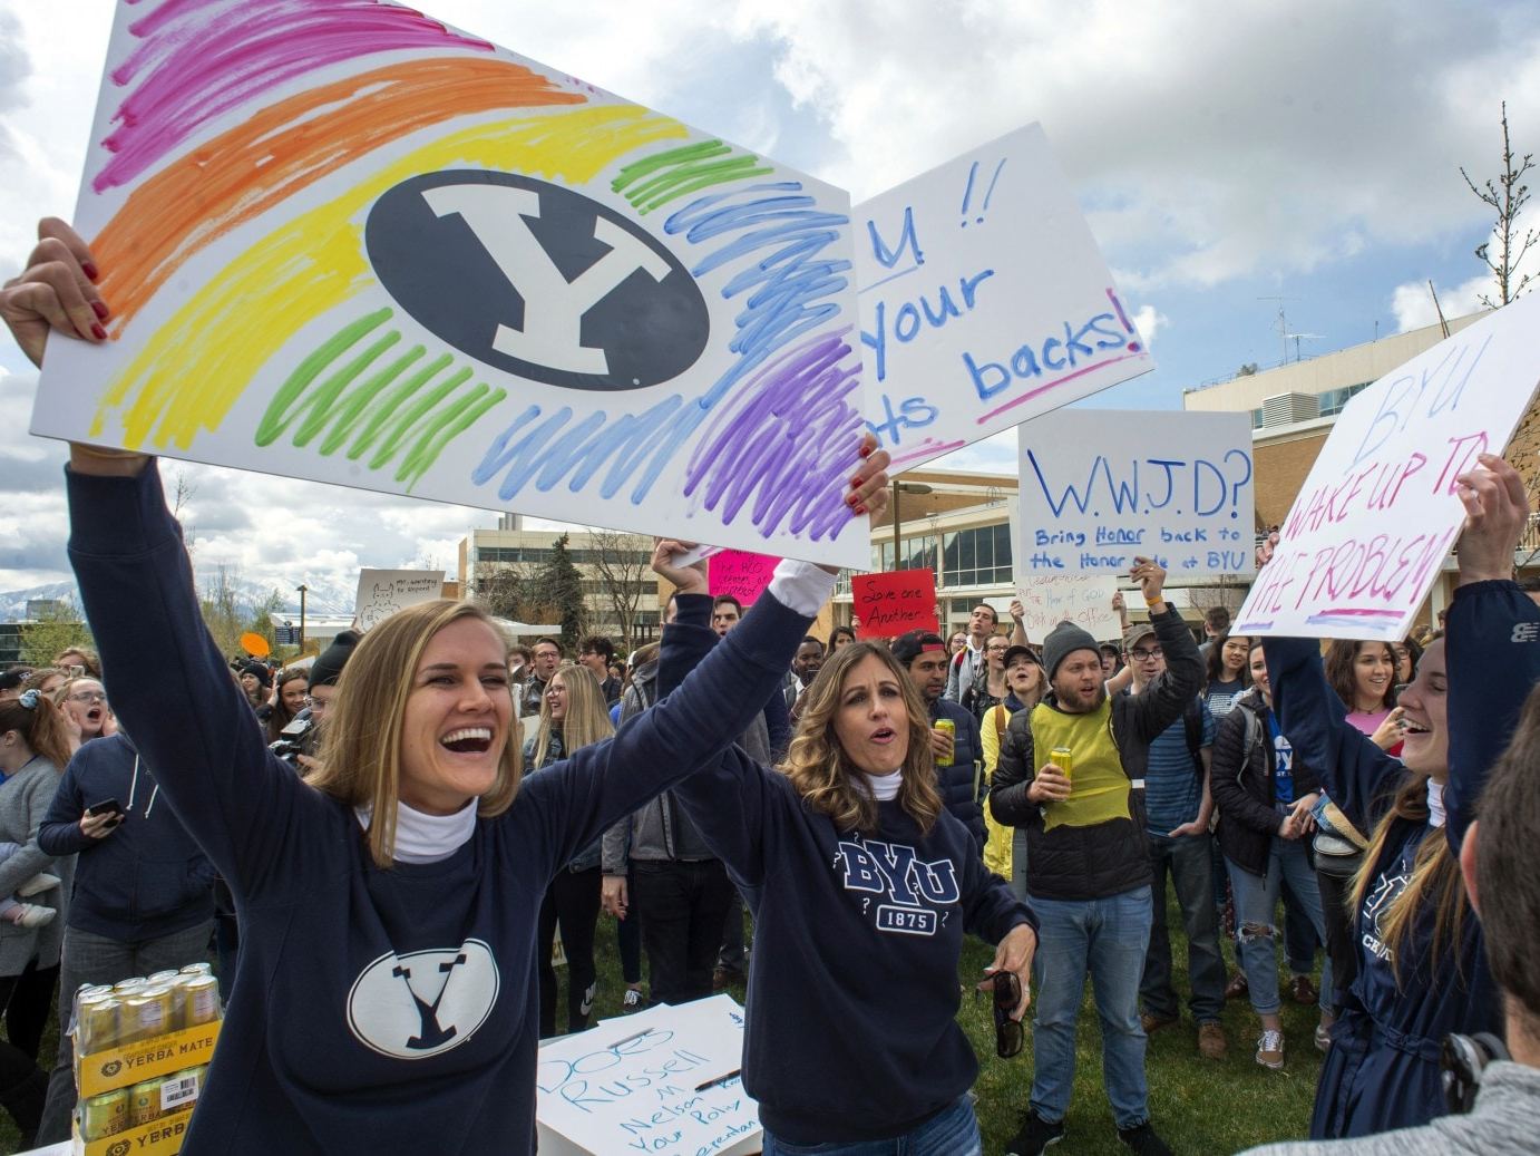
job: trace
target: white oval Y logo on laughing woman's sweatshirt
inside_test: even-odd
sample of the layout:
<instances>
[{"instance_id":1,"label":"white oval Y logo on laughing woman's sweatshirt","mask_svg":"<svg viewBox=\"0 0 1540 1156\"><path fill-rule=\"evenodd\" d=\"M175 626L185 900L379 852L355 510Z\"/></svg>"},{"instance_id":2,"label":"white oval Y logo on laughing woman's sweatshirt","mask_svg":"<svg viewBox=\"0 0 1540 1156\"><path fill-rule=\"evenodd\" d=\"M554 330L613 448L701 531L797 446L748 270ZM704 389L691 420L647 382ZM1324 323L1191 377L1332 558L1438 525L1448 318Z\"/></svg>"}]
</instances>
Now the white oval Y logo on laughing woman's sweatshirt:
<instances>
[{"instance_id":1,"label":"white oval Y logo on laughing woman's sweatshirt","mask_svg":"<svg viewBox=\"0 0 1540 1156\"><path fill-rule=\"evenodd\" d=\"M459 948L385 953L353 982L348 1027L382 1056L437 1056L487 1022L497 982L497 960L479 939Z\"/></svg>"}]
</instances>

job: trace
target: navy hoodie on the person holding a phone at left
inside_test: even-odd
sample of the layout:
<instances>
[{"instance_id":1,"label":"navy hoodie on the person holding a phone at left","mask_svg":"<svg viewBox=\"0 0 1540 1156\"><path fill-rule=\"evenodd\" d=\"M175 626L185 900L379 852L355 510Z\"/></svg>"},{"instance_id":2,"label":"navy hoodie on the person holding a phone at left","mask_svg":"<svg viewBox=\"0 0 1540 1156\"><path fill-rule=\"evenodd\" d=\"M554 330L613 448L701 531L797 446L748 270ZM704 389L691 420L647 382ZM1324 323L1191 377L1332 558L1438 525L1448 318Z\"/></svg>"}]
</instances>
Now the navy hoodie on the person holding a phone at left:
<instances>
[{"instance_id":1,"label":"navy hoodie on the person holding a phone at left","mask_svg":"<svg viewBox=\"0 0 1540 1156\"><path fill-rule=\"evenodd\" d=\"M123 805L123 822L103 838L82 834L86 808L108 798ZM145 943L214 917L214 866L122 732L85 743L69 760L37 845L51 855L79 854L72 928Z\"/></svg>"}]
</instances>

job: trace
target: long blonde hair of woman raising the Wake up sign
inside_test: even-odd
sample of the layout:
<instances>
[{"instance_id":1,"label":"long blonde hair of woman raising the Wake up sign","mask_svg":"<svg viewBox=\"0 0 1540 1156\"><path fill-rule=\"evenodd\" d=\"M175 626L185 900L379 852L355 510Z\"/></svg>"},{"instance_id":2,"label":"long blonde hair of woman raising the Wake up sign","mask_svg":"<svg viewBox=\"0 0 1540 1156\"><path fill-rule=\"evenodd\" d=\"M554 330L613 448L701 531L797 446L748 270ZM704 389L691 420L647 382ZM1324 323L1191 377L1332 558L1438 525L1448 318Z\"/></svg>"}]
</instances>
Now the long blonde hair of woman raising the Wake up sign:
<instances>
[{"instance_id":1,"label":"long blonde hair of woman raising the Wake up sign","mask_svg":"<svg viewBox=\"0 0 1540 1156\"><path fill-rule=\"evenodd\" d=\"M1363 865L1354 877L1352 906L1349 916L1363 911L1364 900L1378 877L1380 857L1384 854L1384 843L1389 838L1391 826L1395 820L1404 818L1412 823L1428 822L1428 775L1418 771L1408 774L1391 809L1380 818L1369 837L1369 848L1363 854ZM1451 948L1458 942L1460 925L1466 919L1465 880L1460 877L1460 862L1449 849L1449 838L1441 826L1432 828L1417 846L1412 857L1412 877L1401 892L1395 896L1389 906L1381 909L1377 925L1380 942L1391 949L1391 974L1397 985L1401 982L1401 948L1406 943L1412 923L1424 909L1434 911L1434 936L1428 945L1428 974L1438 976L1438 965L1445 954L1455 959L1458 968L1458 951ZM1415 962L1414 962L1415 963ZM1415 966L1412 968L1417 969ZM1463 979L1463 976L1461 976Z\"/></svg>"}]
</instances>

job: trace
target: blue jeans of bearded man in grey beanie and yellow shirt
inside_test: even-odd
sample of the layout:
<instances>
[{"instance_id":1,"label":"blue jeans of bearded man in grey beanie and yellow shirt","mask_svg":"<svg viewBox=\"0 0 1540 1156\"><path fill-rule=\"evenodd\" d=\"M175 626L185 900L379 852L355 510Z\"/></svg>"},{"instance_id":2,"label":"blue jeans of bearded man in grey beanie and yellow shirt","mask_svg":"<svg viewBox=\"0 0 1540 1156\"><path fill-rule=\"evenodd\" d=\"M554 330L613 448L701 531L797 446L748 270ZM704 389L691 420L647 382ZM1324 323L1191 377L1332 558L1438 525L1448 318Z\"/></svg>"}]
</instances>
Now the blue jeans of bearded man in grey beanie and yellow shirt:
<instances>
[{"instance_id":1,"label":"blue jeans of bearded man in grey beanie and yellow shirt","mask_svg":"<svg viewBox=\"0 0 1540 1156\"><path fill-rule=\"evenodd\" d=\"M1075 1025L1090 973L1101 1019L1101 1076L1120 1128L1149 1121L1140 977L1150 939L1147 886L1106 899L1032 899L1038 914L1038 986L1032 1020L1032 1110L1056 1124L1075 1087Z\"/></svg>"}]
</instances>

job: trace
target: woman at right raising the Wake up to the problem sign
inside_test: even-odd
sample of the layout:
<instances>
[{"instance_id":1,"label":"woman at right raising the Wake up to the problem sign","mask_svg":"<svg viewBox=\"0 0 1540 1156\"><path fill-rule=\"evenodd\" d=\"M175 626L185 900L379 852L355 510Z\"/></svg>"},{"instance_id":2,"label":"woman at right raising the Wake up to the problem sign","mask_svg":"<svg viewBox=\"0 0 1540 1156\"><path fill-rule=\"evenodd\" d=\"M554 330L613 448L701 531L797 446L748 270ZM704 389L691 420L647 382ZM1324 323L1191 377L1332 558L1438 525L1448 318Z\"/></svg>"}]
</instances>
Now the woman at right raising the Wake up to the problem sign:
<instances>
[{"instance_id":1,"label":"woman at right raising the Wake up to the problem sign","mask_svg":"<svg viewBox=\"0 0 1540 1156\"><path fill-rule=\"evenodd\" d=\"M1466 507L1449 635L1400 697L1392 758L1351 726L1314 640L1269 638L1283 731L1331 798L1369 832L1351 896L1358 976L1332 1031L1314 1138L1408 1128L1445 1113L1438 1047L1451 1031L1502 1030L1502 1008L1466 902L1458 849L1488 768L1540 678L1540 607L1511 580L1529 502L1500 458L1458 478ZM1515 623L1518 627L1515 629ZM1494 677L1502 672L1502 677Z\"/></svg>"}]
</instances>

